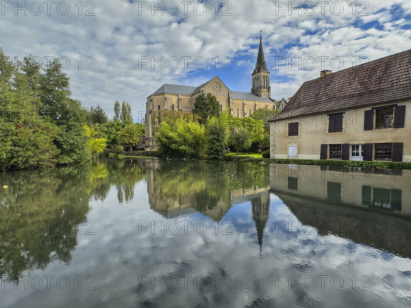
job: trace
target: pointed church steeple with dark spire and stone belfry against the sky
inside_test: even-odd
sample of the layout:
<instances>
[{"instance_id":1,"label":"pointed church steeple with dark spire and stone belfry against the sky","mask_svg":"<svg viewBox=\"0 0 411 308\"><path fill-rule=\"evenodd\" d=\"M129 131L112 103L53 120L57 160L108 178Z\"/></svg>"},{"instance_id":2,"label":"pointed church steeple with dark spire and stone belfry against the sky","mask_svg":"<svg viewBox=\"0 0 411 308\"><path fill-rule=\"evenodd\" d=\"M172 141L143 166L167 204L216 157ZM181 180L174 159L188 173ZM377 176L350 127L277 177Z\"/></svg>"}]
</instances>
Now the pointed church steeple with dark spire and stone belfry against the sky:
<instances>
[{"instance_id":1,"label":"pointed church steeple with dark spire and stone belfry against the sky","mask_svg":"<svg viewBox=\"0 0 411 308\"><path fill-rule=\"evenodd\" d=\"M262 34L260 31L260 47L258 47L258 56L256 62L256 68L254 68L253 73L253 84L251 87L251 92L257 94L259 97L271 97L271 87L270 87L270 72L267 68L264 51L262 50Z\"/></svg>"}]
</instances>

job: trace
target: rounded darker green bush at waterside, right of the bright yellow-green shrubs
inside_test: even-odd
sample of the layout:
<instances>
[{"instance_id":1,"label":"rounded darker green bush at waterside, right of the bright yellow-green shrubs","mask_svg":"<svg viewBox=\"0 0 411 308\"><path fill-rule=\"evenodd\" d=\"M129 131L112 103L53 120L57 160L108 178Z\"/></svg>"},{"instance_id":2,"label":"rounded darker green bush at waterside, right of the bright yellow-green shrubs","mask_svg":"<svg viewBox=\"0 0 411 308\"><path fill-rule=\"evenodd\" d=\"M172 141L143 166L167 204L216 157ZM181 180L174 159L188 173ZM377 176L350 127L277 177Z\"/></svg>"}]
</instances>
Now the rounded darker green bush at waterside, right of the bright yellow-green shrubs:
<instances>
[{"instance_id":1,"label":"rounded darker green bush at waterside, right of the bright yellow-green shrubs","mask_svg":"<svg viewBox=\"0 0 411 308\"><path fill-rule=\"evenodd\" d=\"M222 158L227 153L228 127L221 118L211 118L206 127L206 154L213 158Z\"/></svg>"}]
</instances>

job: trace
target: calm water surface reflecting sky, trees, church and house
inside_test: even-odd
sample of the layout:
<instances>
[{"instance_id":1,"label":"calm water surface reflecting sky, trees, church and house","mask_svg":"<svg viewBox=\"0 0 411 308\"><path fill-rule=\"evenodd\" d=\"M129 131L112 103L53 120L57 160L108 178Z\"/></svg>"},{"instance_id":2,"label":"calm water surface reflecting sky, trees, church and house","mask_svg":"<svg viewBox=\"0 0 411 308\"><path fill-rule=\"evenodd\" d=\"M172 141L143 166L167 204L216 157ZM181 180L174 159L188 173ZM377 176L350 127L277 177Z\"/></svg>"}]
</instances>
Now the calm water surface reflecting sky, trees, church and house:
<instances>
[{"instance_id":1,"label":"calm water surface reflecting sky, trees, church and house","mask_svg":"<svg viewBox=\"0 0 411 308\"><path fill-rule=\"evenodd\" d=\"M0 174L0 307L411 307L411 172L108 159Z\"/></svg>"}]
</instances>

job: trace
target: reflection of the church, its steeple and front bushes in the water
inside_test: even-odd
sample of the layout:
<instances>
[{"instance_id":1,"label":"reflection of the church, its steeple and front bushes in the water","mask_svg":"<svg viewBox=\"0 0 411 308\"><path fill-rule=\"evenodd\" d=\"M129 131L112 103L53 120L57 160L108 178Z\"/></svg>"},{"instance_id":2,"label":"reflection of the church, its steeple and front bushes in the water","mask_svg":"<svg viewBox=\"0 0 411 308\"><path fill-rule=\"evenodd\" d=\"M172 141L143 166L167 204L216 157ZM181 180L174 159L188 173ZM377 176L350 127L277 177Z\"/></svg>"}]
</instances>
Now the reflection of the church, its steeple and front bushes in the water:
<instances>
[{"instance_id":1,"label":"reflection of the church, its steeple and front bushes in the water","mask_svg":"<svg viewBox=\"0 0 411 308\"><path fill-rule=\"evenodd\" d=\"M167 219L200 212L220 222L233 205L251 202L261 250L270 209L267 166L196 162L176 168L158 160L144 164L150 207Z\"/></svg>"}]
</instances>

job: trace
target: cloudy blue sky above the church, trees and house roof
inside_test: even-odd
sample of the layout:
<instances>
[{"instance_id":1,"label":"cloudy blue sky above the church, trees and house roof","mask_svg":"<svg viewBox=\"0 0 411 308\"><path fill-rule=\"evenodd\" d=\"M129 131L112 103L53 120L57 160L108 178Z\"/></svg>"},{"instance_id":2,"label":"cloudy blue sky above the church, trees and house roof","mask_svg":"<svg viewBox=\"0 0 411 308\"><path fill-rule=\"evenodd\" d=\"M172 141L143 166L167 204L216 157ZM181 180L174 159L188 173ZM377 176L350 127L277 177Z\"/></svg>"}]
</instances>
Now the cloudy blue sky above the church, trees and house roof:
<instances>
[{"instance_id":1,"label":"cloudy blue sky above the church, trees and house roof","mask_svg":"<svg viewBox=\"0 0 411 308\"><path fill-rule=\"evenodd\" d=\"M1 1L0 47L15 61L58 57L73 99L132 105L144 118L162 84L219 76L251 91L260 31L271 97L288 99L324 69L336 72L411 49L411 1Z\"/></svg>"}]
</instances>

